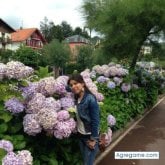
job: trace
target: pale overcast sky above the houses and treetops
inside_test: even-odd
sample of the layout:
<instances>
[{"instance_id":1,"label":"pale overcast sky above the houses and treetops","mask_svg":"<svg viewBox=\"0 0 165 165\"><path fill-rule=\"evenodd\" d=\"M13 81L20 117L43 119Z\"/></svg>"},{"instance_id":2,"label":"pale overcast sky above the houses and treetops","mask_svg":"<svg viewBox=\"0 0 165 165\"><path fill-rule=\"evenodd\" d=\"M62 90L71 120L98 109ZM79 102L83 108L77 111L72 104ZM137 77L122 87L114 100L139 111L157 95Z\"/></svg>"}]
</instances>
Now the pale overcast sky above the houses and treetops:
<instances>
[{"instance_id":1,"label":"pale overcast sky above the houses and treetops","mask_svg":"<svg viewBox=\"0 0 165 165\"><path fill-rule=\"evenodd\" d=\"M0 17L18 29L37 27L46 16L55 25L67 21L73 28L83 28L80 12L83 0L0 0Z\"/></svg>"}]
</instances>

